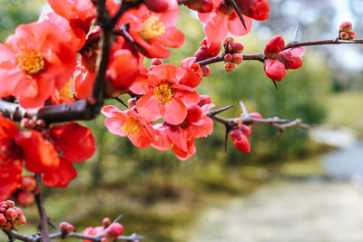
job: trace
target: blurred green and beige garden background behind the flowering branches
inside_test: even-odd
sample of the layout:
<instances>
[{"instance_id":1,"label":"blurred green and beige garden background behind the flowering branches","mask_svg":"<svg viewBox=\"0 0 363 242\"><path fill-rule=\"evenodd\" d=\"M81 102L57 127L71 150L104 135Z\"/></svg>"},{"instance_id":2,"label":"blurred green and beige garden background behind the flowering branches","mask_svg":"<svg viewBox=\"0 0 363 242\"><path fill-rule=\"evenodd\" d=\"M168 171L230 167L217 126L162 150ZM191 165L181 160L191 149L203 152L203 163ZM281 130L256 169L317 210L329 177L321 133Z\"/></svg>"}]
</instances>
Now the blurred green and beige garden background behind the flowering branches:
<instances>
[{"instance_id":1,"label":"blurred green and beige garden background behind the flowering branches","mask_svg":"<svg viewBox=\"0 0 363 242\"><path fill-rule=\"evenodd\" d=\"M243 53L261 53L274 35L289 42L298 22L299 41L333 39L345 20L358 38L363 35L361 0L269 2L270 19L254 21L250 34L236 38ZM49 9L44 0L0 4L3 42L18 24ZM178 28L185 44L166 60L177 65L203 38L201 24L185 7ZM198 92L211 95L217 108L233 104L224 117L239 116L243 101L264 117L314 124L311 131L290 128L279 139L268 125L253 127L249 154L231 141L223 150L219 123L211 137L197 140L196 155L181 161L172 151L133 147L105 129L102 115L83 122L93 130L97 153L76 164L78 177L68 188L45 188L48 213L54 224L66 220L78 231L123 214L124 234L136 232L146 241L362 241L362 50L358 44L307 47L303 67L288 71L278 91L261 63L246 61L233 73L212 64ZM25 214L30 223L21 231L31 234L36 209L25 208Z\"/></svg>"}]
</instances>

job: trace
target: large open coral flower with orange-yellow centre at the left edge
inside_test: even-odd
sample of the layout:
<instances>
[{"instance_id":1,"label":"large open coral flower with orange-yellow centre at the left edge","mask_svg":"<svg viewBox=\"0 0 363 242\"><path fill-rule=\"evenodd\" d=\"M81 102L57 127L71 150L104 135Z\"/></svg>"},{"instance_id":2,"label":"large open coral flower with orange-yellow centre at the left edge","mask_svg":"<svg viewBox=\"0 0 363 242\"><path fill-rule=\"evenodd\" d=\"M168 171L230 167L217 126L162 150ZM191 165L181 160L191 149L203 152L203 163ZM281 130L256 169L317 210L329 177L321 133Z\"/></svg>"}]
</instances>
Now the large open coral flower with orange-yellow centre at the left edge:
<instances>
[{"instance_id":1,"label":"large open coral flower with orange-yellow centre at the left edge","mask_svg":"<svg viewBox=\"0 0 363 242\"><path fill-rule=\"evenodd\" d=\"M15 96L25 108L40 108L54 89L62 90L76 62L74 33L58 26L59 16L22 24L0 44L0 97Z\"/></svg>"}]
</instances>

